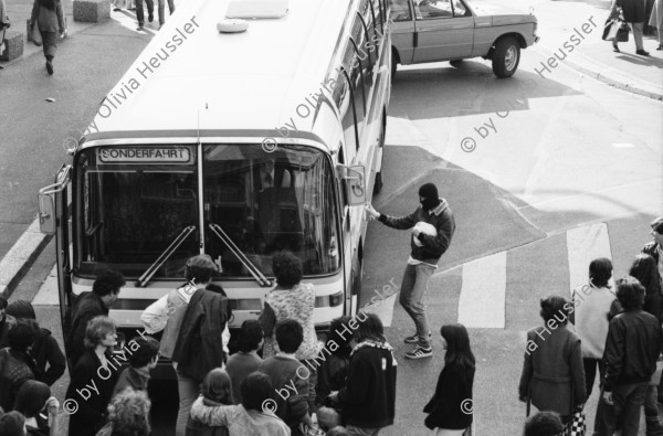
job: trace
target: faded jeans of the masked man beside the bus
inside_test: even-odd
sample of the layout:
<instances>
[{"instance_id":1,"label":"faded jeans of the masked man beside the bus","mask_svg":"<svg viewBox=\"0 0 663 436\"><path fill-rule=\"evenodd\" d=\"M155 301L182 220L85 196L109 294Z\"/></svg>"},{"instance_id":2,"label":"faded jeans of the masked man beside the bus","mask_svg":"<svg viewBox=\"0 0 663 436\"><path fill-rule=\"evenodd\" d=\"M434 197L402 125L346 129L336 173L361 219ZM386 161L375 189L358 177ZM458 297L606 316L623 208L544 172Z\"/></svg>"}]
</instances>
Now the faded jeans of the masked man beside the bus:
<instances>
[{"instance_id":1,"label":"faded jeans of the masked man beside the bus","mask_svg":"<svg viewBox=\"0 0 663 436\"><path fill-rule=\"evenodd\" d=\"M414 321L417 327L417 334L419 336L419 345L429 348L429 323L425 317L425 306L423 305L423 297L428 288L428 281L433 275L435 267L424 264L409 265L406 267L403 274L403 281L401 284L401 293L399 302L406 309L410 318Z\"/></svg>"}]
</instances>

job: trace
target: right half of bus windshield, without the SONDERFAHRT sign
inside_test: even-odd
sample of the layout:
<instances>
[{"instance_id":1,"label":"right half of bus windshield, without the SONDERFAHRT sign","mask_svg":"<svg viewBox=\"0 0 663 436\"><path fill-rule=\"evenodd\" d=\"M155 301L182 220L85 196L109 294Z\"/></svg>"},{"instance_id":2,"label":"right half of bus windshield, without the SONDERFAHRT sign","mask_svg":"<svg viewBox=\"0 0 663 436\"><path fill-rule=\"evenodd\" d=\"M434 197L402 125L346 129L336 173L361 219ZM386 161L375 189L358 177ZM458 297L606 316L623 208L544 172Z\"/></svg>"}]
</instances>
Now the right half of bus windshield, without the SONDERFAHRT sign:
<instances>
[{"instance_id":1,"label":"right half of bus windshield, without the SONDERFAHRT sign","mask_svg":"<svg viewBox=\"0 0 663 436\"><path fill-rule=\"evenodd\" d=\"M307 147L204 146L206 220L218 224L265 276L272 256L293 252L305 275L338 269L334 172L324 155ZM224 276L250 273L232 249L207 233L206 251L220 258Z\"/></svg>"}]
</instances>

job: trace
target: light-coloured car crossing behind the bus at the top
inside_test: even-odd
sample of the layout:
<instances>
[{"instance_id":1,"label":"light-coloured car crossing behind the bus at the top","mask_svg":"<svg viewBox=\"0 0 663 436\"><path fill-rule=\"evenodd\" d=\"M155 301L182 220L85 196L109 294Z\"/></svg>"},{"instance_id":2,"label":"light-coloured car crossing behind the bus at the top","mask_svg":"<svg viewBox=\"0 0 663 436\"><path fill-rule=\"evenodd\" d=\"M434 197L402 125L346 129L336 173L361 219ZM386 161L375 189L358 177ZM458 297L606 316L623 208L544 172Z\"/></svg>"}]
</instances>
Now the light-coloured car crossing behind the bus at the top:
<instances>
[{"instance_id":1,"label":"light-coloured car crossing behind the bus at the top","mask_svg":"<svg viewBox=\"0 0 663 436\"><path fill-rule=\"evenodd\" d=\"M497 77L514 75L520 49L536 43L537 20L493 6L465 0L391 0L391 70L396 65L464 59L493 61Z\"/></svg>"}]
</instances>

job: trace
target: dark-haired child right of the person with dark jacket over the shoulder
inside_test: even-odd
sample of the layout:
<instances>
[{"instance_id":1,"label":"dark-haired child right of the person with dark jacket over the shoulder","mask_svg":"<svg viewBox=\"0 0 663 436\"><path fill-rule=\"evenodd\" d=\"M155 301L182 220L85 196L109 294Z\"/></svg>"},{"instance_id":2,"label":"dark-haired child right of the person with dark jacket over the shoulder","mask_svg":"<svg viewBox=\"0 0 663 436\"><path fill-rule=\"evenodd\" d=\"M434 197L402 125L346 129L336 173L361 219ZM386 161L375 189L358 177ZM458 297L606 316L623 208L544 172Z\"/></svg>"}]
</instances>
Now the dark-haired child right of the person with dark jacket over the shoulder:
<instances>
[{"instance_id":1,"label":"dark-haired child right of the person with dark jacket over the shoulder","mask_svg":"<svg viewBox=\"0 0 663 436\"><path fill-rule=\"evenodd\" d=\"M262 359L257 355L257 350L262 348L264 342L261 323L253 319L244 321L238 342L240 351L231 355L225 364L225 371L228 371L232 385L232 404L242 402L240 393L242 380L252 372L257 371L262 363Z\"/></svg>"}]
</instances>

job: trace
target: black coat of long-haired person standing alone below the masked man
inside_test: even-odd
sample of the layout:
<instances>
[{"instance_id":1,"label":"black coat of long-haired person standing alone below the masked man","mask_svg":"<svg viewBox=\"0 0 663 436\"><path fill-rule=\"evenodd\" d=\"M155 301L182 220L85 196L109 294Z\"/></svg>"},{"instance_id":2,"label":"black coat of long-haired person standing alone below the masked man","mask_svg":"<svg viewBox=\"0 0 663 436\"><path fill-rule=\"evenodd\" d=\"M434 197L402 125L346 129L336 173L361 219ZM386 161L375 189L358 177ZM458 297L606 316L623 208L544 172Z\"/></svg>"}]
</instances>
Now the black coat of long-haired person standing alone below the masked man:
<instances>
[{"instance_id":1,"label":"black coat of long-haired person standing alone below the masked man","mask_svg":"<svg viewBox=\"0 0 663 436\"><path fill-rule=\"evenodd\" d=\"M433 397L423 407L423 412L429 414L424 421L425 426L431 429L470 427L473 383L474 370L463 370L457 365L444 366L438 379Z\"/></svg>"}]
</instances>

